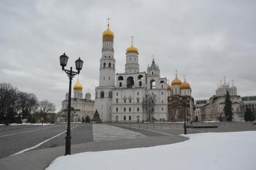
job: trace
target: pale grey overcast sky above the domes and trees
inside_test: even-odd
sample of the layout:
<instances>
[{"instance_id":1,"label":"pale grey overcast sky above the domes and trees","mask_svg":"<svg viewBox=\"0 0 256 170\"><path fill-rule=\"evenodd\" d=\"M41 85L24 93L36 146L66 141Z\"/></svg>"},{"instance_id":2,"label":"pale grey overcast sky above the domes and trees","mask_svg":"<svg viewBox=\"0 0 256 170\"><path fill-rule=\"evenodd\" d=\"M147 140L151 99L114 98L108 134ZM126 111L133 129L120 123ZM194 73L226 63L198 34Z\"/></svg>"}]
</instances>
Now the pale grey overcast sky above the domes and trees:
<instances>
[{"instance_id":1,"label":"pale grey overcast sky above the domes and trees","mask_svg":"<svg viewBox=\"0 0 256 170\"><path fill-rule=\"evenodd\" d=\"M59 111L69 86L59 66L65 51L68 66L84 60L79 80L94 99L108 17L116 73L124 72L133 35L140 71L154 55L161 77L172 81L175 69L180 80L186 75L195 100L210 98L224 75L239 95L256 95L256 1L0 0L0 82L48 99Z\"/></svg>"}]
</instances>

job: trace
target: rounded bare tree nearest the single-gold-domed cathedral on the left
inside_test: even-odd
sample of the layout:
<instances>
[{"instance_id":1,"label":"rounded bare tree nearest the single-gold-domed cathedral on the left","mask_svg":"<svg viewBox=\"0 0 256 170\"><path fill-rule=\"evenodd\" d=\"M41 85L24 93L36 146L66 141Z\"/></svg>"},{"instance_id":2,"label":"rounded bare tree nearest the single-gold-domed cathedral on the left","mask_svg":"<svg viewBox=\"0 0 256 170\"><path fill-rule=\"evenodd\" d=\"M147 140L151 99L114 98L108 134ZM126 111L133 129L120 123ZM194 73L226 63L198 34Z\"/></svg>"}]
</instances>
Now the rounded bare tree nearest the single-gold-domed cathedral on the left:
<instances>
[{"instance_id":1,"label":"rounded bare tree nearest the single-gold-domed cathedral on the left","mask_svg":"<svg viewBox=\"0 0 256 170\"><path fill-rule=\"evenodd\" d=\"M55 105L52 102L47 101L44 99L38 103L38 109L40 112L41 117L45 119L47 114L55 112Z\"/></svg>"}]
</instances>

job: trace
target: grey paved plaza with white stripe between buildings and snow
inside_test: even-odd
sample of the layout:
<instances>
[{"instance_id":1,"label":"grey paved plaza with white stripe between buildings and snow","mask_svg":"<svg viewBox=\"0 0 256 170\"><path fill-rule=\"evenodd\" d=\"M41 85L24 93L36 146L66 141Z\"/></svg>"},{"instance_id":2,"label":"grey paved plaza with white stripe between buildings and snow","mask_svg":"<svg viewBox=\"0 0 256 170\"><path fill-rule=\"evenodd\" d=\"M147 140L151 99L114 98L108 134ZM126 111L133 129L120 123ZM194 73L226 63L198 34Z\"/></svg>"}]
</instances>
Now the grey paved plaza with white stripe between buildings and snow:
<instances>
[{"instance_id":1,"label":"grey paved plaza with white stripe between buildings and snow","mask_svg":"<svg viewBox=\"0 0 256 170\"><path fill-rule=\"evenodd\" d=\"M206 125L206 123L204 123ZM218 128L187 129L188 133L256 130L252 123L207 123ZM199 126L199 124L198 124ZM72 154L173 144L188 138L183 123L72 123ZM3 169L43 169L64 155L66 124L1 126L0 166ZM14 155L13 155L14 154ZM13 156L11 156L13 155Z\"/></svg>"}]
</instances>

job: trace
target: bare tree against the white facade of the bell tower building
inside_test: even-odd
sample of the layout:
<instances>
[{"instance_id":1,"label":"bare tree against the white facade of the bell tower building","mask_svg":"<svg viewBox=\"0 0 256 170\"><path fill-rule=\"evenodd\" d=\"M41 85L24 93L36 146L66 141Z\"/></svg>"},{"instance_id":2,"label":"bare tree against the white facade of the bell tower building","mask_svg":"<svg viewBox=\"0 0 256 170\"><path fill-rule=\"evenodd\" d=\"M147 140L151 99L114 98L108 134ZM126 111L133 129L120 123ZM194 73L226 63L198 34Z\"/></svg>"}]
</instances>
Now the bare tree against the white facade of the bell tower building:
<instances>
[{"instance_id":1,"label":"bare tree against the white facade of the bell tower building","mask_svg":"<svg viewBox=\"0 0 256 170\"><path fill-rule=\"evenodd\" d=\"M153 114L155 103L156 103L156 95L150 95L148 93L143 97L142 109L143 109L143 112L145 112L148 115L150 123L151 123L151 115Z\"/></svg>"}]
</instances>

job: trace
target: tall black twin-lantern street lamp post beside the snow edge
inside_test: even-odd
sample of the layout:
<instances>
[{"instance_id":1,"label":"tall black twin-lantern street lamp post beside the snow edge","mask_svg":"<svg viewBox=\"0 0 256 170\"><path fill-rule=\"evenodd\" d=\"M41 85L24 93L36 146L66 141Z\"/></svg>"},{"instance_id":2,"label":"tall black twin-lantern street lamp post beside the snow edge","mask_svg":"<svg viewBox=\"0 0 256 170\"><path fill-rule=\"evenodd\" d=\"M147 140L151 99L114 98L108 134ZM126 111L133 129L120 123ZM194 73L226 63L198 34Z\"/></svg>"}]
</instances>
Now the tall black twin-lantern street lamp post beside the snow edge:
<instances>
[{"instance_id":1,"label":"tall black twin-lantern street lamp post beside the snow edge","mask_svg":"<svg viewBox=\"0 0 256 170\"><path fill-rule=\"evenodd\" d=\"M67 65L67 60L69 60L69 57L66 56L66 54L62 54L59 56L59 63L62 66L62 71L65 71L67 76L69 77L69 107L67 110L67 132L66 132L66 151L65 155L70 154L71 150L71 132L70 132L70 108L71 108L71 86L72 86L72 78L75 77L76 74L79 74L82 66L83 66L83 61L80 59L76 60L76 69L78 72L72 71L72 67L70 67L70 70L64 69L65 66Z\"/></svg>"}]
</instances>

